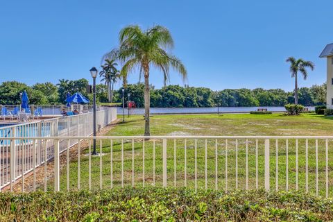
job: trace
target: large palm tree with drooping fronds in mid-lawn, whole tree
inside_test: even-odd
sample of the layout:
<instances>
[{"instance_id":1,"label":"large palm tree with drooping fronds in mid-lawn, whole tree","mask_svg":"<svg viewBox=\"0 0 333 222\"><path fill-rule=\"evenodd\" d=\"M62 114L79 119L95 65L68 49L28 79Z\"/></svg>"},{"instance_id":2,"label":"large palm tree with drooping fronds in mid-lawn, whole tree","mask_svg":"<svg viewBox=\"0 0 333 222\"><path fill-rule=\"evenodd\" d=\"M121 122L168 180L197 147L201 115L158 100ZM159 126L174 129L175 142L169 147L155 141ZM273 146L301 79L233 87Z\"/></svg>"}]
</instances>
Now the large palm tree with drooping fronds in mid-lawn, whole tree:
<instances>
[{"instance_id":1,"label":"large palm tree with drooping fronds in mid-lawn, whole tree","mask_svg":"<svg viewBox=\"0 0 333 222\"><path fill-rule=\"evenodd\" d=\"M119 49L110 51L104 58L117 58L123 63L121 77L125 83L128 74L136 68L140 74L144 74L144 135L150 135L150 68L160 69L164 82L169 80L169 67L178 71L183 80L187 77L187 71L178 58L167 53L167 50L173 48L173 39L169 30L163 26L154 26L146 31L136 25L127 26L119 33L119 43Z\"/></svg>"}]
</instances>

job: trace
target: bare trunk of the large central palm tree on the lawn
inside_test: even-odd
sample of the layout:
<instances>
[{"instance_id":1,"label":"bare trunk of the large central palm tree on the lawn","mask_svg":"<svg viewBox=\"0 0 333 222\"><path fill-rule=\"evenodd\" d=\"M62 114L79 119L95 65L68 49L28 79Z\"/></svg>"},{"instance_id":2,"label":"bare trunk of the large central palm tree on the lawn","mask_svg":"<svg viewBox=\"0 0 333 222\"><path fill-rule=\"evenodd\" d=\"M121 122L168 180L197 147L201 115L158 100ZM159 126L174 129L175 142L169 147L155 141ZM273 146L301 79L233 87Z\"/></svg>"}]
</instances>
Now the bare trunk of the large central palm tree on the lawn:
<instances>
[{"instance_id":1,"label":"bare trunk of the large central palm tree on the lawn","mask_svg":"<svg viewBox=\"0 0 333 222\"><path fill-rule=\"evenodd\" d=\"M151 135L151 128L149 126L149 112L151 108L151 98L149 95L149 67L144 66L144 135Z\"/></svg>"}]
</instances>

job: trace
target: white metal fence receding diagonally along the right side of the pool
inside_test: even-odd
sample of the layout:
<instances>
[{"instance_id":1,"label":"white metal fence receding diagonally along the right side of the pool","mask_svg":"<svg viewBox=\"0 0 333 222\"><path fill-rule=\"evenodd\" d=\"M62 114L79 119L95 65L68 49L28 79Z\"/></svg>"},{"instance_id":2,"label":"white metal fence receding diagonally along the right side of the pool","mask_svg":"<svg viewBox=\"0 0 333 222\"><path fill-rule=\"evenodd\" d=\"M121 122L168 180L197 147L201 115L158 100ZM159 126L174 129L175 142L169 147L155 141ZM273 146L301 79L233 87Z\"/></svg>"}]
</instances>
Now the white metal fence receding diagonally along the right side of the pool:
<instances>
[{"instance_id":1,"label":"white metal fence receding diagonally along the right side of the pool","mask_svg":"<svg viewBox=\"0 0 333 222\"><path fill-rule=\"evenodd\" d=\"M54 139L49 139L50 137L92 135L92 115L92 112L89 112L0 128L0 189L31 172L45 160L54 157L55 144ZM96 112L97 128L103 128L115 119L117 119L115 108ZM26 139L15 139L15 137ZM29 137L43 139L36 142ZM77 140L62 138L59 139L59 143L58 152L61 153L76 144Z\"/></svg>"}]
</instances>

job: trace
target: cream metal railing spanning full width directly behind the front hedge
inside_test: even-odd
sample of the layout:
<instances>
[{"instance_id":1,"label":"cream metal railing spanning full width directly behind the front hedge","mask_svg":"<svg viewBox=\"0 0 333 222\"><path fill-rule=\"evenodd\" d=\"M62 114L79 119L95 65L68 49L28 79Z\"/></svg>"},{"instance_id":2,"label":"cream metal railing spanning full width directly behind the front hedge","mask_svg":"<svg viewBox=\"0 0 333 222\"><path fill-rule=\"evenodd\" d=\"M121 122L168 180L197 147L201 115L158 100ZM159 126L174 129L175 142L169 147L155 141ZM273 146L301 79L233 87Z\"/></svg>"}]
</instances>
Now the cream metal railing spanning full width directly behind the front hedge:
<instances>
[{"instance_id":1,"label":"cream metal railing spanning full width directly behind the front hedge","mask_svg":"<svg viewBox=\"0 0 333 222\"><path fill-rule=\"evenodd\" d=\"M9 147L11 153L16 148L17 156L37 163L29 167L27 163L21 164L23 169L33 171L33 190L159 185L196 190L296 189L326 197L333 194L330 185L333 162L329 162L332 136L68 137L65 134L10 139L10 144L16 144ZM83 139L89 145L79 142ZM92 139L96 139L99 153L103 155L91 155ZM6 140L8 138L0 138L0 141ZM74 148L77 155L70 161L67 147L72 143L78 146ZM67 153L62 154L65 150ZM44 160L50 160L51 155L54 156L51 160L54 175L48 180L46 167L49 164ZM66 158L62 165L61 155ZM36 184L34 166L37 165L45 170L42 185ZM8 167L9 171L22 171L17 169L16 162ZM10 178L5 180L6 174L1 174L1 184L8 181L13 187L15 176L8 176ZM22 191L24 189L22 177Z\"/></svg>"}]
</instances>

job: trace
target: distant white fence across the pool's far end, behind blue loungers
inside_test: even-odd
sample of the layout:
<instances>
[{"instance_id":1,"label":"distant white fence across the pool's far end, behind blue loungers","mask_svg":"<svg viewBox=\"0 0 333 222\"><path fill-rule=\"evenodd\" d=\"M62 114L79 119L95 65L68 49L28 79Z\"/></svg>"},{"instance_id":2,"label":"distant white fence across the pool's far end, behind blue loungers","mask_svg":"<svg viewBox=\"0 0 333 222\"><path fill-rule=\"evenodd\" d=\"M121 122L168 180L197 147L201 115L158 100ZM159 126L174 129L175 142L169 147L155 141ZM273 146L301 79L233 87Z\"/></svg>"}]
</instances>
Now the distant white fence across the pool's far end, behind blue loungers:
<instances>
[{"instance_id":1,"label":"distant white fence across the pool's far end, behind blue loungers","mask_svg":"<svg viewBox=\"0 0 333 222\"><path fill-rule=\"evenodd\" d=\"M8 112L14 112L14 110L20 110L21 105L0 105L0 114L2 108L6 108ZM78 112L92 112L92 105L80 105L80 104L71 104L71 107L68 107L66 105L29 105L29 108L31 110L31 114L35 114L35 110L41 110L42 116L57 116L61 115L62 109L65 110L78 110ZM96 106L96 110L104 110L105 107L101 105Z\"/></svg>"}]
</instances>

